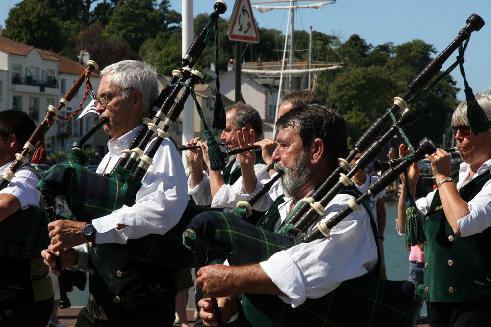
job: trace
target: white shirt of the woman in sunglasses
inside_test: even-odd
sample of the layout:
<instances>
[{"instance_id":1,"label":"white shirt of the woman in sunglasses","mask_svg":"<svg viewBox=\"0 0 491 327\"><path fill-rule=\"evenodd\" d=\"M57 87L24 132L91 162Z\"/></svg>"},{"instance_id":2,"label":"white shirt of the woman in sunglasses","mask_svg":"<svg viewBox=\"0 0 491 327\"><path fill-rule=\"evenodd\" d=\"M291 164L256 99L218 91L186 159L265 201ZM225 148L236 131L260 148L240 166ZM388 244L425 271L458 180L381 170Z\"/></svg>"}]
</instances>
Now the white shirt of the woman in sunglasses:
<instances>
[{"instance_id":1,"label":"white shirt of the woman in sunglasses","mask_svg":"<svg viewBox=\"0 0 491 327\"><path fill-rule=\"evenodd\" d=\"M457 189L467 185L474 178L481 176L487 171L491 171L491 159L486 161L481 168L479 168L468 180L465 180L469 176L470 166L465 162L460 164L459 168L459 181L457 182ZM430 209L431 201L435 195L436 189L424 198L420 198L416 201L416 206L419 209L420 217L424 215ZM474 199L467 202L470 213L457 221L461 231L461 237L471 236L482 232L486 228L491 226L491 180L488 180L481 191L474 197Z\"/></svg>"}]
</instances>

